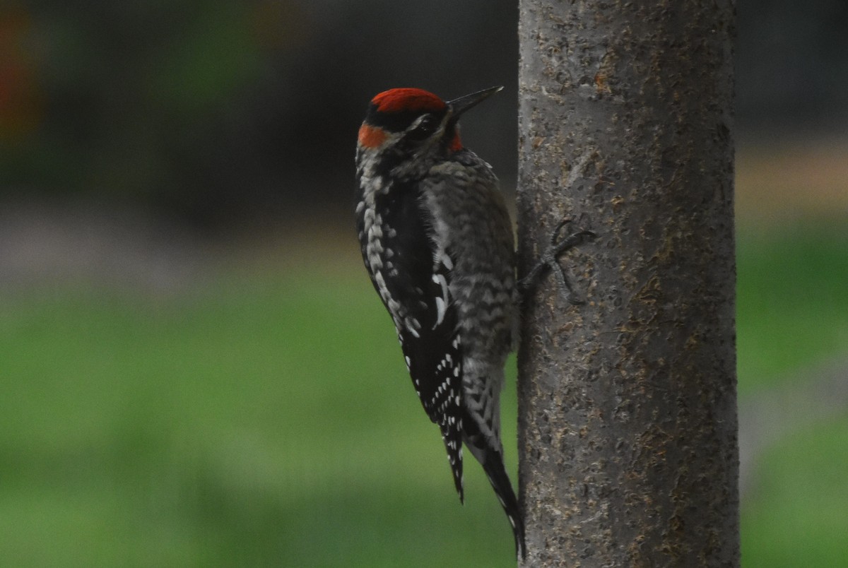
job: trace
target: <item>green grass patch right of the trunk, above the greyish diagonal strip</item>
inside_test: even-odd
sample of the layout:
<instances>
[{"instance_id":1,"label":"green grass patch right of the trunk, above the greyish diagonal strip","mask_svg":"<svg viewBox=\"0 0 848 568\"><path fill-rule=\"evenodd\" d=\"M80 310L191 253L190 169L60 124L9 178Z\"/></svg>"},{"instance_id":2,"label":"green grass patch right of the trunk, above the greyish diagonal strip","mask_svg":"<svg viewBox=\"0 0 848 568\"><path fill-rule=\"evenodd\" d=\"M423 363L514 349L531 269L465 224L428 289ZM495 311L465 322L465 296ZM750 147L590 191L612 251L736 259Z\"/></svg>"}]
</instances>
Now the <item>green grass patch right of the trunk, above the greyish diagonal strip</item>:
<instances>
[{"instance_id":1,"label":"green grass patch right of the trunk, above the greyish diagonal strip","mask_svg":"<svg viewBox=\"0 0 848 568\"><path fill-rule=\"evenodd\" d=\"M742 395L848 350L845 221L740 231L736 307Z\"/></svg>"}]
</instances>

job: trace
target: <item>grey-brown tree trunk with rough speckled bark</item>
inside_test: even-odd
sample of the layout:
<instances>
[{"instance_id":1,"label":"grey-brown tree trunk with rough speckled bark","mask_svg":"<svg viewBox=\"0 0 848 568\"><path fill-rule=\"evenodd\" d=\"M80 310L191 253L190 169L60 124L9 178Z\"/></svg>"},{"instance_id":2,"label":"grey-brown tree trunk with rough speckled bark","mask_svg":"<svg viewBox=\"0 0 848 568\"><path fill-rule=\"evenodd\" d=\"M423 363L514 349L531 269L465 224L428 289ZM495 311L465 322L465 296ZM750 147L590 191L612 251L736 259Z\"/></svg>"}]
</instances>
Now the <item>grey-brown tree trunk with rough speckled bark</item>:
<instances>
[{"instance_id":1,"label":"grey-brown tree trunk with rough speckled bark","mask_svg":"<svg viewBox=\"0 0 848 568\"><path fill-rule=\"evenodd\" d=\"M737 566L734 3L521 0L526 565Z\"/></svg>"}]
</instances>

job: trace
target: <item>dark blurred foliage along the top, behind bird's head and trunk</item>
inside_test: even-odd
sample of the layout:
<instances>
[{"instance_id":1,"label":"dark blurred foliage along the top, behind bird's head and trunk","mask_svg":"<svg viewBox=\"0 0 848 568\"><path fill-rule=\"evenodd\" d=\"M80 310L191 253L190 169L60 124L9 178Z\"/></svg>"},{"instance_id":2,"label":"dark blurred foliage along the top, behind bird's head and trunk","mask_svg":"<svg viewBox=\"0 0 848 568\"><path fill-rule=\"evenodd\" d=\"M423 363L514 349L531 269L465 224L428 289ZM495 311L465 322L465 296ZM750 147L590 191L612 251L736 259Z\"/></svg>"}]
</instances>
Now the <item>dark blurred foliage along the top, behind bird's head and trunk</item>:
<instances>
[{"instance_id":1,"label":"dark blurred foliage along the top, behind bird's head and trunk","mask_svg":"<svg viewBox=\"0 0 848 568\"><path fill-rule=\"evenodd\" d=\"M510 0L8 0L0 193L82 193L213 225L348 203L373 94L497 84L466 142L510 187L516 19ZM843 0L740 3L739 124L845 125L845 29Z\"/></svg>"}]
</instances>

